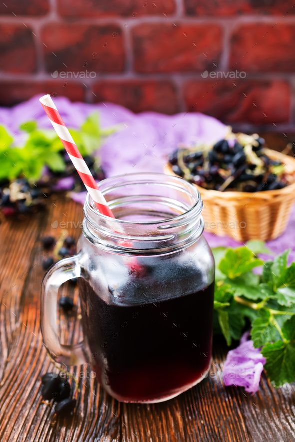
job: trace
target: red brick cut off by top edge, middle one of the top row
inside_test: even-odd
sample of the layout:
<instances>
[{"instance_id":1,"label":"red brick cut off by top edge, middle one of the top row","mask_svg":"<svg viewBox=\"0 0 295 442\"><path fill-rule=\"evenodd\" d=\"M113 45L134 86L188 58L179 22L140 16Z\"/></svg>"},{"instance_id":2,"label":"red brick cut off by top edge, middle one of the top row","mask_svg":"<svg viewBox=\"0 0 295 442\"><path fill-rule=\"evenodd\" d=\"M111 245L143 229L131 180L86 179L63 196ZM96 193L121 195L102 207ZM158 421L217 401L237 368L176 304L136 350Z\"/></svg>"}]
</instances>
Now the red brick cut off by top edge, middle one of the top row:
<instances>
[{"instance_id":1,"label":"red brick cut off by top edge, middle one of the top row","mask_svg":"<svg viewBox=\"0 0 295 442\"><path fill-rule=\"evenodd\" d=\"M170 15L174 0L58 0L58 12L64 17Z\"/></svg>"}]
</instances>

